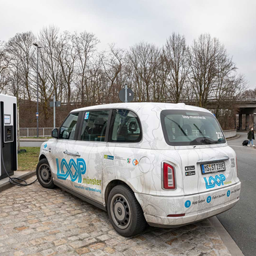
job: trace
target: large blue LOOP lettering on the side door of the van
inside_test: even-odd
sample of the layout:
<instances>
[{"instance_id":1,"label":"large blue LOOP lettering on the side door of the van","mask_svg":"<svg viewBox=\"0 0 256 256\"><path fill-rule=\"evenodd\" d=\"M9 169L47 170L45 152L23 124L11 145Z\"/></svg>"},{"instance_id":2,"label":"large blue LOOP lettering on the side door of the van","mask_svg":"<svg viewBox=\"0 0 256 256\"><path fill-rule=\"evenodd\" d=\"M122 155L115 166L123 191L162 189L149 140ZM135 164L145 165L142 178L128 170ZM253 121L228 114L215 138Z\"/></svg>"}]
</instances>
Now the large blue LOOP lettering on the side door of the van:
<instances>
[{"instance_id":1,"label":"large blue LOOP lettering on the side door of the van","mask_svg":"<svg viewBox=\"0 0 256 256\"><path fill-rule=\"evenodd\" d=\"M72 182L76 181L78 183L82 182L82 174L86 172L85 160L82 158L77 158L77 163L74 159L69 160L69 164L66 162L66 159L61 160L61 168L58 163L58 158L56 158L57 164L57 177L58 179L66 180L69 176ZM74 168L74 174L72 172L72 167Z\"/></svg>"}]
</instances>

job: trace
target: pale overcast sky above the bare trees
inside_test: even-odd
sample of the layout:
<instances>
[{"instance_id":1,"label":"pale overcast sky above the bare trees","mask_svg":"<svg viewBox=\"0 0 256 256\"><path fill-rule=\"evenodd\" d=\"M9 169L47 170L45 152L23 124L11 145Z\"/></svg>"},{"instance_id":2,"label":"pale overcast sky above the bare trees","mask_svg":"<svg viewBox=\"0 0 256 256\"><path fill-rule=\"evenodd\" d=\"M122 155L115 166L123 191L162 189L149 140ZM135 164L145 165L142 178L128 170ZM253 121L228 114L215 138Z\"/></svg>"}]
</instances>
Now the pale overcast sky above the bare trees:
<instances>
[{"instance_id":1,"label":"pale overcast sky above the bare trees","mask_svg":"<svg viewBox=\"0 0 256 256\"><path fill-rule=\"evenodd\" d=\"M225 44L238 71L256 88L255 0L0 0L0 40L55 25L61 31L88 31L125 48L138 42L162 46L173 32L191 44L209 33Z\"/></svg>"}]
</instances>

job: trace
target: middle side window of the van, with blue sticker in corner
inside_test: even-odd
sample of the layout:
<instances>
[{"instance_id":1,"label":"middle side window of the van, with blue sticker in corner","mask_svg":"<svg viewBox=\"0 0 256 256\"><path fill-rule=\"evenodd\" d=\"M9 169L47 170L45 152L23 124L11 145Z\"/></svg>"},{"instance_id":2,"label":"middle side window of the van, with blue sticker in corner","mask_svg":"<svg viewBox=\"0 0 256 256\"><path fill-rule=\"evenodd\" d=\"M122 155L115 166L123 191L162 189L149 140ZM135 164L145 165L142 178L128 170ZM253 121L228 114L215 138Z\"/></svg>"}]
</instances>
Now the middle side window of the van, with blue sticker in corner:
<instances>
[{"instance_id":1,"label":"middle side window of the van, with blue sticker in corner","mask_svg":"<svg viewBox=\"0 0 256 256\"><path fill-rule=\"evenodd\" d=\"M82 141L104 141L109 110L85 112L82 121Z\"/></svg>"}]
</instances>

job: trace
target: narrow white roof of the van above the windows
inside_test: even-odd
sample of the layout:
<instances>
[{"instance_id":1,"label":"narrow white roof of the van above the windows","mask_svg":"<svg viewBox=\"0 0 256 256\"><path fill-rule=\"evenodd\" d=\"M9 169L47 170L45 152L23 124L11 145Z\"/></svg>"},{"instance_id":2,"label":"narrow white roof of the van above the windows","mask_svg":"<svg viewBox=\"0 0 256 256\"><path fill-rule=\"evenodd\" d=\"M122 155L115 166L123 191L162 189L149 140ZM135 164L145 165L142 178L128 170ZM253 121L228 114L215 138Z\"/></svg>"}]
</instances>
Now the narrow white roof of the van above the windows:
<instances>
[{"instance_id":1,"label":"narrow white roof of the van above the windows","mask_svg":"<svg viewBox=\"0 0 256 256\"><path fill-rule=\"evenodd\" d=\"M115 103L115 104L101 104L95 106L86 106L79 109L74 109L71 112L79 112L79 111L88 111L88 110L96 110L96 109L131 109L135 112L139 109L149 108L149 107L157 107L160 110L163 109L184 109L184 110L194 110L201 112L209 112L207 109L203 109L198 106L190 106L184 103L160 103L160 102L128 102L128 103ZM211 112L209 112L211 113Z\"/></svg>"}]
</instances>

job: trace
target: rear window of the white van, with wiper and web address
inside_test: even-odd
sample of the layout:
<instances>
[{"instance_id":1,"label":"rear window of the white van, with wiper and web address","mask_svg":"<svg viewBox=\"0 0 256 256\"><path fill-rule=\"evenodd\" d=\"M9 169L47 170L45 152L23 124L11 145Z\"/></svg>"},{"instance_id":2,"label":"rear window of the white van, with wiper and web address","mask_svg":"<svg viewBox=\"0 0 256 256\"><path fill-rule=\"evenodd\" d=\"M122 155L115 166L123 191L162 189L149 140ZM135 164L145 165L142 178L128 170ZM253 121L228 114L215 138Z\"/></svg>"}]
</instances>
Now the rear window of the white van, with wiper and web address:
<instances>
[{"instance_id":1,"label":"rear window of the white van, with wiper and web address","mask_svg":"<svg viewBox=\"0 0 256 256\"><path fill-rule=\"evenodd\" d=\"M217 119L211 113L163 110L160 114L166 143L172 146L225 143Z\"/></svg>"}]
</instances>

